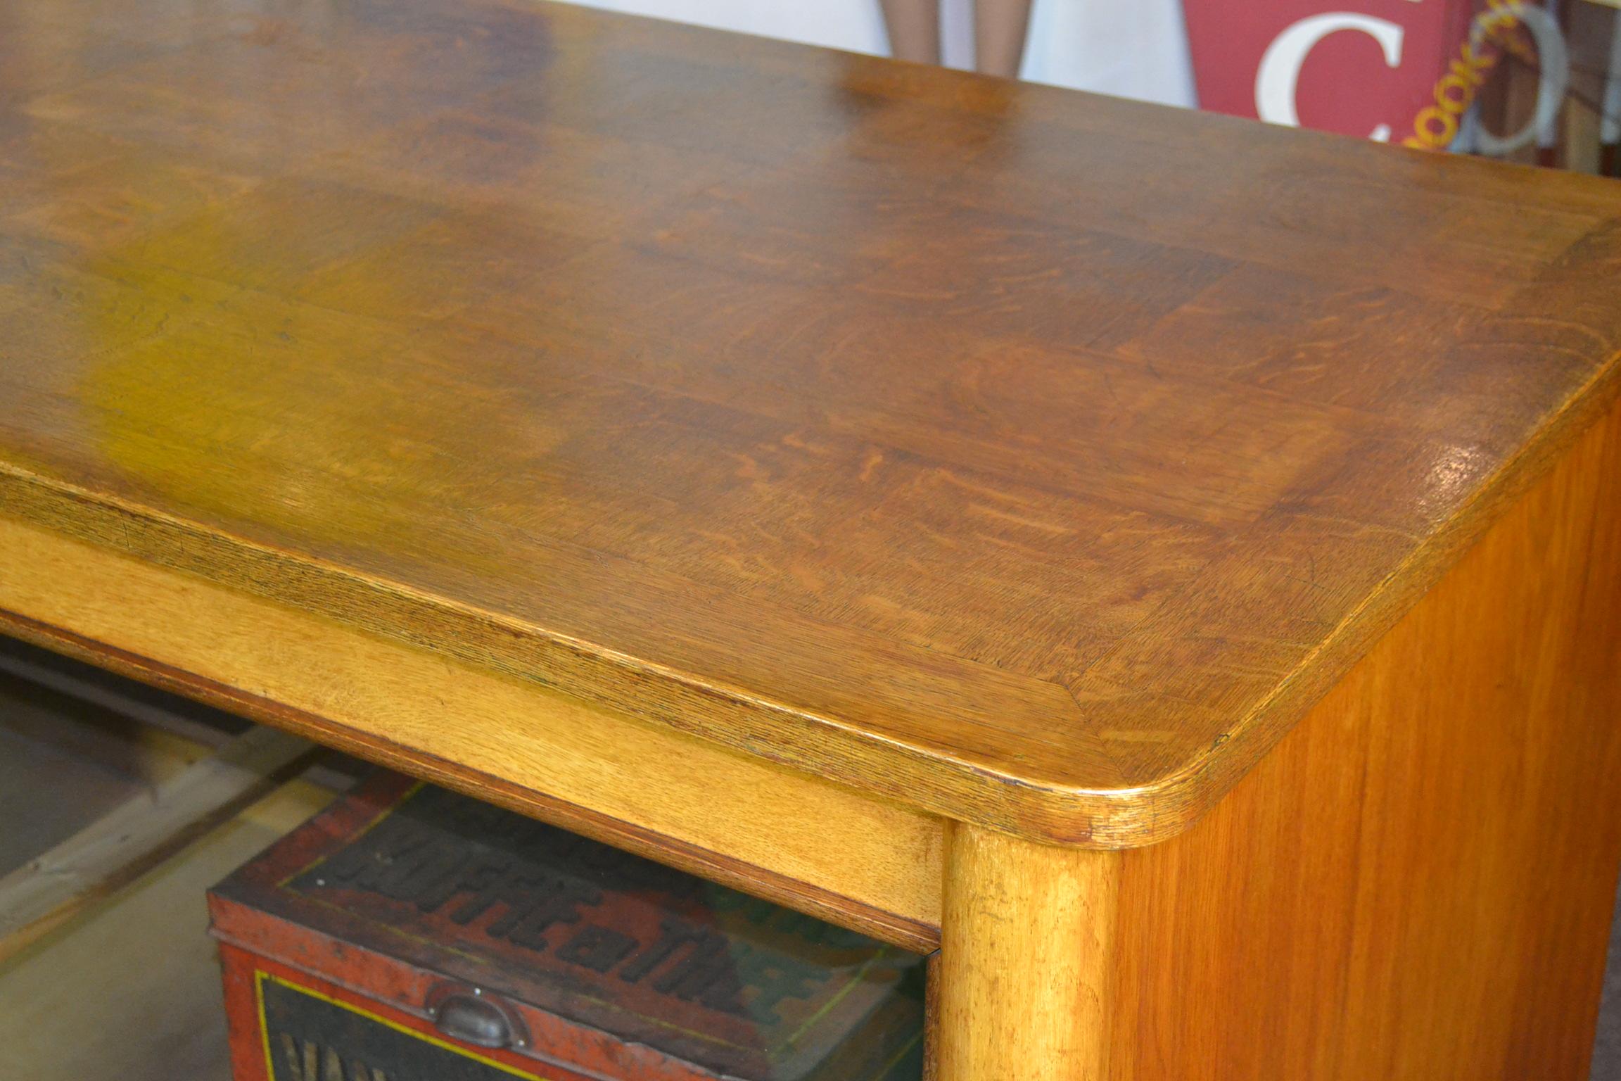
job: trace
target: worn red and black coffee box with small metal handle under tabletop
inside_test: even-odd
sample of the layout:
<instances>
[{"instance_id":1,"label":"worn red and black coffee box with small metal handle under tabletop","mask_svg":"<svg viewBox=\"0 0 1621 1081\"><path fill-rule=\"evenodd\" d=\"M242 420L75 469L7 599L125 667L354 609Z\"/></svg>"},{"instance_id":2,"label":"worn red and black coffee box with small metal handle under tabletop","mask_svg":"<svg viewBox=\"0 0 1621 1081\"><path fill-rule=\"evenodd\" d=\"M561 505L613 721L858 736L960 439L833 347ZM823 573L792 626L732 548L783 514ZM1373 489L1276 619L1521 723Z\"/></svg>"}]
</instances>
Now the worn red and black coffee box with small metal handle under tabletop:
<instances>
[{"instance_id":1,"label":"worn red and black coffee box with small metal handle under tabletop","mask_svg":"<svg viewBox=\"0 0 1621 1081\"><path fill-rule=\"evenodd\" d=\"M209 893L237 1081L909 1081L893 946L397 775Z\"/></svg>"}]
</instances>

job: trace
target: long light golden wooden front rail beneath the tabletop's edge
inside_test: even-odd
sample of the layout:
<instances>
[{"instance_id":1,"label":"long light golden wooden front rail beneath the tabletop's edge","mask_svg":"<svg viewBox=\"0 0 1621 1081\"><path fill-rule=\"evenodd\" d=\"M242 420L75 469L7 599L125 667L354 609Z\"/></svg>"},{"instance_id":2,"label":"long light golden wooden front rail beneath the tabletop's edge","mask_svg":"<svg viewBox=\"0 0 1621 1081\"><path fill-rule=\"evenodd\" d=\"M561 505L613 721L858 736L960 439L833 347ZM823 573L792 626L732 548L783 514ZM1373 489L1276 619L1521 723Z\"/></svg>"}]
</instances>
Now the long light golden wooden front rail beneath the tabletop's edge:
<instances>
[{"instance_id":1,"label":"long light golden wooden front rail beneath the tabletop's edge","mask_svg":"<svg viewBox=\"0 0 1621 1081\"><path fill-rule=\"evenodd\" d=\"M0 551L10 634L895 945L939 942L929 815L5 517Z\"/></svg>"}]
</instances>

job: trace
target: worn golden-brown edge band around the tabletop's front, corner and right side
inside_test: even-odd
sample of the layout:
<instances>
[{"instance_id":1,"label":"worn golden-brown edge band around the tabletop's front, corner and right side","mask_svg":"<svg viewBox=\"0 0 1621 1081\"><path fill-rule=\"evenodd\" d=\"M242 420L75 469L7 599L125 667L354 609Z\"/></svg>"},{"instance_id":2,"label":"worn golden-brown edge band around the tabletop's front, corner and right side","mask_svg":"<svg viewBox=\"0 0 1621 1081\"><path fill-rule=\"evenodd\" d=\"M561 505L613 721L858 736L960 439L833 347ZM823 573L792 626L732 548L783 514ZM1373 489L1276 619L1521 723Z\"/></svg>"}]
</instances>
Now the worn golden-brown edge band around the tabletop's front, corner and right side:
<instances>
[{"instance_id":1,"label":"worn golden-brown edge band around the tabletop's front, corner and right side","mask_svg":"<svg viewBox=\"0 0 1621 1081\"><path fill-rule=\"evenodd\" d=\"M1618 392L1621 392L1621 365L1600 365L1590 382L1571 394L1519 454L1504 460L1482 481L1469 504L1431 533L1365 605L1344 619L1318 650L1279 682L1272 695L1243 716L1234 718L1225 737L1206 747L1196 758L1140 784L1122 788L1037 784L973 763L930 755L825 718L775 708L755 699L725 699L715 689L682 682L673 673L635 668L629 658L601 655L590 658L598 674L618 673L618 686L613 682L587 686L582 681L559 687L537 669L509 668L488 653L480 655L477 650L457 653L444 650L444 653L460 663L533 681L585 702L600 702L606 708L639 720L699 736L751 757L802 770L942 818L1046 844L1104 849L1156 844L1198 822L1260 762L1284 733L1457 562L1499 514L1551 468L1590 423L1611 408ZM313 611L357 630L417 648L434 647L410 639L391 626L365 619L360 601L410 598L434 606L436 614L449 613L468 621L468 626L477 624L486 630L494 626L509 635L528 635L537 648L541 643L575 653L587 648L562 637L541 642L533 637L532 627L517 626L493 613L423 595L392 582L368 579L326 561L297 558L240 536L206 530L160 511L91 493L3 460L0 460L0 509L16 520L44 530L180 570L222 588L251 593L280 606ZM233 556L242 566L230 567L229 561L220 559L222 556ZM230 567L237 577L230 582L220 580L220 567ZM282 574L263 574L267 569L280 569ZM339 592L349 592L350 603L316 606L313 592L319 590L324 590L323 596L329 601ZM175 689L191 694L183 687ZM702 700L702 710L691 710L695 699ZM689 708L682 710L682 705ZM269 723L277 721L269 720ZM383 760L378 750L360 744L345 747L337 741L339 734L334 733L332 739L324 742L352 750L358 757ZM520 802L545 799L535 793L507 786L509 793L496 794L504 784L496 778L475 780L472 771L454 775L459 770L454 763L443 763L439 768L446 770L444 783L452 788L473 791L475 784L490 784L491 799L496 802L519 801L507 805L540 815ZM410 771L421 773L420 768ZM624 846L631 848L631 843ZM631 848L631 851L647 854L645 849ZM715 856L710 854L710 859ZM725 878L716 877L716 880L734 885ZM773 895L773 899L785 898L786 895L783 898ZM929 930L937 935L937 929ZM913 942L921 940L913 938ZM937 942L937 937L929 942ZM896 945L903 943L896 940Z\"/></svg>"}]
</instances>

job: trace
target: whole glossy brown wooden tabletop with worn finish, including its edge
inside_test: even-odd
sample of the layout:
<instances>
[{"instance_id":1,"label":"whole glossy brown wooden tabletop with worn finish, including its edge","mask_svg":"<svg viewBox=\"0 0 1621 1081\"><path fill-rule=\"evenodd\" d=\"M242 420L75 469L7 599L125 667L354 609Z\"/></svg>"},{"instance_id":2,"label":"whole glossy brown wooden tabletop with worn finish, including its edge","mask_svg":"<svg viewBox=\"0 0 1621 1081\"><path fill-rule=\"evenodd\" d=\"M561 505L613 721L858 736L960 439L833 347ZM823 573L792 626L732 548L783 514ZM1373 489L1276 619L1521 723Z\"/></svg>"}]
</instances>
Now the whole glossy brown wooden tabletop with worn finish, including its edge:
<instances>
[{"instance_id":1,"label":"whole glossy brown wooden tabletop with worn finish, including its edge","mask_svg":"<svg viewBox=\"0 0 1621 1081\"><path fill-rule=\"evenodd\" d=\"M1185 828L1615 394L1590 177L546 3L0 19L0 512L1033 840Z\"/></svg>"}]
</instances>

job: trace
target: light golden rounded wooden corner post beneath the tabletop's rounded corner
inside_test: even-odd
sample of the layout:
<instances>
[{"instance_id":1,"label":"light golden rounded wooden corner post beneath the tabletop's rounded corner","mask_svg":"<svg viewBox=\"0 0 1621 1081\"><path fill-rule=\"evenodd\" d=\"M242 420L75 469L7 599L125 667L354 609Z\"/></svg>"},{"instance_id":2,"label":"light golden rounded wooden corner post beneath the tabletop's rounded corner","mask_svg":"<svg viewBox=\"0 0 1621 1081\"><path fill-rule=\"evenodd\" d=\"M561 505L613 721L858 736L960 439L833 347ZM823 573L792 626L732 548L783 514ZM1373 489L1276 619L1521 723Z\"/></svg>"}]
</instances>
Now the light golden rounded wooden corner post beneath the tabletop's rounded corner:
<instances>
[{"instance_id":1,"label":"light golden rounded wooden corner post beneath the tabletop's rounded corner","mask_svg":"<svg viewBox=\"0 0 1621 1081\"><path fill-rule=\"evenodd\" d=\"M1120 852L947 833L935 1081L1102 1081Z\"/></svg>"}]
</instances>

